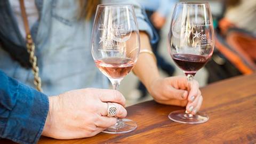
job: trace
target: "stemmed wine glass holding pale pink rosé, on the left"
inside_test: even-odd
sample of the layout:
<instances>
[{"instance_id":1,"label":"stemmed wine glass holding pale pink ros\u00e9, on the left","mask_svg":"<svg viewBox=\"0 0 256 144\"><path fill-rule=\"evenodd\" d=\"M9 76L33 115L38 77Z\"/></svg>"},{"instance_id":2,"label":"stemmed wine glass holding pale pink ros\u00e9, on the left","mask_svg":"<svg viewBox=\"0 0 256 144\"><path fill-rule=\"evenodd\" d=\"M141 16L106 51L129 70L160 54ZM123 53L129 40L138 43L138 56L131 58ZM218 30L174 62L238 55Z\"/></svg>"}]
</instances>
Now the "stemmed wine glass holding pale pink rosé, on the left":
<instances>
[{"instance_id":1,"label":"stemmed wine glass holding pale pink ros\u00e9, on the left","mask_svg":"<svg viewBox=\"0 0 256 144\"><path fill-rule=\"evenodd\" d=\"M114 90L134 67L139 51L140 37L133 5L101 4L97 6L92 30L91 51L94 62L108 77ZM130 119L118 119L105 133L127 133L137 124Z\"/></svg>"}]
</instances>

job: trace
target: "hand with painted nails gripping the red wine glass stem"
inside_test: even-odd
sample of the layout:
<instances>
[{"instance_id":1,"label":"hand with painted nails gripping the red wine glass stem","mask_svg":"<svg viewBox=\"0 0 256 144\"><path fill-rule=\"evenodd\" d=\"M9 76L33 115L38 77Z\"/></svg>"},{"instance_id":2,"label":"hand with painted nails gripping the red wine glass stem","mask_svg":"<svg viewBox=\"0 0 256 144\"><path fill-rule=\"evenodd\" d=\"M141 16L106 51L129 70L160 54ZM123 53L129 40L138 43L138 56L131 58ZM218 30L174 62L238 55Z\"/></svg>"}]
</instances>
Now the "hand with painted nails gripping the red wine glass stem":
<instances>
[{"instance_id":1,"label":"hand with painted nails gripping the red wine glass stem","mask_svg":"<svg viewBox=\"0 0 256 144\"><path fill-rule=\"evenodd\" d=\"M191 82L189 94L187 85L185 76L158 78L151 83L148 90L158 103L186 106L186 110L195 115L202 105L203 97L197 81Z\"/></svg>"}]
</instances>

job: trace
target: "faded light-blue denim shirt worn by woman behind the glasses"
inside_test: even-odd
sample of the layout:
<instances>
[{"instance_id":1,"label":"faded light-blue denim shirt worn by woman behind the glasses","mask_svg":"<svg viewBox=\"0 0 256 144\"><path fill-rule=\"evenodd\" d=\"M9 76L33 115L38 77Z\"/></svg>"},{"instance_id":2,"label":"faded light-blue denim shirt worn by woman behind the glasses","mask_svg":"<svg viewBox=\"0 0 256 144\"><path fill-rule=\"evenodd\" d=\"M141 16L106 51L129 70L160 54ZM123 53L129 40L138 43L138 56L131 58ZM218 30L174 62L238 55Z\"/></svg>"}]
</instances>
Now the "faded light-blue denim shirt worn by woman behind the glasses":
<instances>
[{"instance_id":1,"label":"faded light-blue denim shirt worn by woman behind the glasses","mask_svg":"<svg viewBox=\"0 0 256 144\"><path fill-rule=\"evenodd\" d=\"M36 56L42 89L46 95L85 87L107 88L107 77L95 66L91 55L91 32L93 18L77 20L78 6L74 0L36 0L39 19L31 28L36 45ZM139 29L155 39L140 5L132 0L103 0L102 3L133 4ZM18 45L25 45L18 30L9 1L0 1L0 30ZM12 29L10 28L12 27ZM0 69L8 76L34 86L31 69L23 68L0 48Z\"/></svg>"}]
</instances>

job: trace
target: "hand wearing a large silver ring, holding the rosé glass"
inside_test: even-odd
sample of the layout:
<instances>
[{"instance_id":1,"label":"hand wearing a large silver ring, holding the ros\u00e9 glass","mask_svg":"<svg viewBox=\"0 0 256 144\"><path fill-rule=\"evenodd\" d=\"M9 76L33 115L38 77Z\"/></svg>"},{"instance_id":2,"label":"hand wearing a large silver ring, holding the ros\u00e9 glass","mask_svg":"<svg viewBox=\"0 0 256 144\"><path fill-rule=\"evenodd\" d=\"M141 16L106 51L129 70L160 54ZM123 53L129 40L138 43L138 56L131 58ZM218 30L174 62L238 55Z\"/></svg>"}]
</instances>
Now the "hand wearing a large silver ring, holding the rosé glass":
<instances>
[{"instance_id":1,"label":"hand wearing a large silver ring, holding the ros\u00e9 glass","mask_svg":"<svg viewBox=\"0 0 256 144\"><path fill-rule=\"evenodd\" d=\"M116 123L115 117L107 117L106 102L117 107L117 117L126 116L125 98L116 90L81 89L49 97L42 134L55 139L92 137Z\"/></svg>"}]
</instances>

